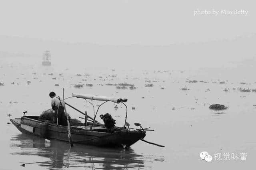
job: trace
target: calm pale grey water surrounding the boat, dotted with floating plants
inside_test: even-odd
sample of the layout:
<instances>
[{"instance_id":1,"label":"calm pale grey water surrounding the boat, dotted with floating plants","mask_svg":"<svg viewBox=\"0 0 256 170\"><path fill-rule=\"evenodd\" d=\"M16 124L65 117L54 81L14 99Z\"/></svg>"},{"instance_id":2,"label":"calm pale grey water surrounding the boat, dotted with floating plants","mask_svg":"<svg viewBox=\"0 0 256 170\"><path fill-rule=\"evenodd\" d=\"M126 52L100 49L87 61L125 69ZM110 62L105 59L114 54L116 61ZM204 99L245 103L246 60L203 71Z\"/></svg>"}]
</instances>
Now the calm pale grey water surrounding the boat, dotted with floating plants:
<instances>
[{"instance_id":1,"label":"calm pale grey water surrounding the boat, dotted with floating plants","mask_svg":"<svg viewBox=\"0 0 256 170\"><path fill-rule=\"evenodd\" d=\"M112 68L85 68L82 64L76 67L56 64L43 67L33 58L26 59L26 63L20 58L1 58L0 61L0 81L4 82L4 86L0 86L1 169L236 169L254 165L256 107L253 105L256 105L256 93L242 93L237 89L256 88L256 79L244 76L248 74L240 75L235 69L181 73L171 68L170 71L112 71ZM76 76L77 73L82 76ZM187 79L198 80L198 83L188 83ZM150 80L154 87L145 87L145 80ZM200 83L200 80L208 83ZM27 81L31 83L27 84ZM220 81L226 83L220 84ZM105 85L124 82L133 83L137 89L116 89L115 86ZM240 82L250 84L242 85ZM60 86L55 86L57 83ZM74 88L78 83L92 83L93 86ZM182 91L185 85L190 90ZM166 147L160 148L142 141L129 149L78 144L70 148L68 143L57 140L51 140L47 145L44 138L21 134L14 125L7 124L9 119L21 117L23 111L28 111L27 115L40 115L50 108L50 91L62 95L62 88L65 88L65 97L70 97L72 93L126 97L127 121L131 127L135 127L136 122L144 128L151 127L155 131L148 131L145 140ZM224 92L224 88L229 91ZM90 104L84 100L69 99L66 102L93 116ZM100 104L96 101L93 103ZM209 110L208 107L214 103L229 108L224 111ZM125 107L117 106L118 109L115 109L113 103L107 103L99 113L110 113L117 125L123 126ZM72 118L82 116L70 108L68 112ZM9 113L12 115L10 118L7 116ZM212 162L200 160L202 151L212 155ZM224 152L246 152L247 158L214 159L214 153ZM22 163L26 166L20 166Z\"/></svg>"}]
</instances>

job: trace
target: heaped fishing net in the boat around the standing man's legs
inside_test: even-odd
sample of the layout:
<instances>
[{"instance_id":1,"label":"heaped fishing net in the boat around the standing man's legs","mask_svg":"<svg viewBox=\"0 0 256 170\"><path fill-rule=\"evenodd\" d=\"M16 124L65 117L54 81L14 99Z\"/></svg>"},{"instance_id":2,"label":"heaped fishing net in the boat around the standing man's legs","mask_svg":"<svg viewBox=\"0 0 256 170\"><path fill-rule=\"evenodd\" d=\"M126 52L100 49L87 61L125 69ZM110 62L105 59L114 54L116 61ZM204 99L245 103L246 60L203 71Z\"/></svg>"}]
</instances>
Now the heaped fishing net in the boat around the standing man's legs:
<instances>
[{"instance_id":1,"label":"heaped fishing net in the boat around the standing man's legs","mask_svg":"<svg viewBox=\"0 0 256 170\"><path fill-rule=\"evenodd\" d=\"M41 122L52 122L54 116L54 111L52 109L48 109L46 111L43 111L43 113L38 117L38 121ZM70 125L79 125L82 124L82 122L78 119L71 119L71 117L68 115L70 119Z\"/></svg>"}]
</instances>

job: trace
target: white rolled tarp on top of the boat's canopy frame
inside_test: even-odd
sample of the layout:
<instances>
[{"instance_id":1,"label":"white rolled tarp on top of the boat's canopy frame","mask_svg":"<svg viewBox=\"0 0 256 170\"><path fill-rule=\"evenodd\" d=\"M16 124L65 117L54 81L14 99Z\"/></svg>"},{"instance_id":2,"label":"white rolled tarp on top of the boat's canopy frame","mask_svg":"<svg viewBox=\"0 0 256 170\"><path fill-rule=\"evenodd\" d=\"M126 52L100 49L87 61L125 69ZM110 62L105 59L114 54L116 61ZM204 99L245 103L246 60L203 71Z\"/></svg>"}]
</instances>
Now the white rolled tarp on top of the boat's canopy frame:
<instances>
[{"instance_id":1,"label":"white rolled tarp on top of the boat's canopy frame","mask_svg":"<svg viewBox=\"0 0 256 170\"><path fill-rule=\"evenodd\" d=\"M72 93L72 97L90 99L90 100L99 100L99 101L112 101L114 103L126 102L127 99L122 99L118 97L107 97L107 96L99 96L99 95L90 95L90 94L76 94Z\"/></svg>"}]
</instances>

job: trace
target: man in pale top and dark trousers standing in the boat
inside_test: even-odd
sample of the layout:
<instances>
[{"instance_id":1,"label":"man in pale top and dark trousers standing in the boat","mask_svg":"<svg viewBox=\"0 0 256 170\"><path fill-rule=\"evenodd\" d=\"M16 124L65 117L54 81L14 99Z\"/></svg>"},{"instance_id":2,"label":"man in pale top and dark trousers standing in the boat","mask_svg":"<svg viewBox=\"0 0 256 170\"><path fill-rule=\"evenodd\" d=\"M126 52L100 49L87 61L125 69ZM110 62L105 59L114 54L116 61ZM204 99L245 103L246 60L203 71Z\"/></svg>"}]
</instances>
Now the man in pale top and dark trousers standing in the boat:
<instances>
[{"instance_id":1,"label":"man in pale top and dark trousers standing in the boat","mask_svg":"<svg viewBox=\"0 0 256 170\"><path fill-rule=\"evenodd\" d=\"M49 94L49 96L52 98L52 109L54 110L53 123L57 123L58 118L58 125L68 125L64 112L64 101L62 97L56 96L53 91Z\"/></svg>"}]
</instances>

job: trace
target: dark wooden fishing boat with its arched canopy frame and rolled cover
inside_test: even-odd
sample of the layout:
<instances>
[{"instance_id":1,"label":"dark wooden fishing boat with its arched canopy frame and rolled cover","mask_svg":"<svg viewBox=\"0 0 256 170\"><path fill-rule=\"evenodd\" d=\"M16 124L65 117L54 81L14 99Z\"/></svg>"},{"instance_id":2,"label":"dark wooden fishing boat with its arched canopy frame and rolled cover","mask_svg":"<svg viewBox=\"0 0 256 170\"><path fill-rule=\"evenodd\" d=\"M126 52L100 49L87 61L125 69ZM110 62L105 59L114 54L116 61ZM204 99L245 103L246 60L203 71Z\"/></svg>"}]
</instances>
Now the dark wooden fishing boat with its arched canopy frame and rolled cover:
<instances>
[{"instance_id":1,"label":"dark wooden fishing boat with its arched canopy frame and rolled cover","mask_svg":"<svg viewBox=\"0 0 256 170\"><path fill-rule=\"evenodd\" d=\"M124 104L123 102L127 101L127 99L96 96L96 95L72 94L72 97L90 99L90 100L100 100L100 101L104 101L104 103L108 101L112 101L114 103ZM68 98L71 98L71 97L68 97ZM90 103L90 101L88 102ZM104 103L102 103L101 105L103 105ZM66 105L72 107L68 103L66 103ZM94 105L92 106L94 107ZM98 107L98 109L100 108L100 106ZM72 108L75 109L76 111L79 111L74 107ZM79 112L82 113L81 111ZM134 144L140 139L143 139L146 136L146 132L144 131L143 128L140 128L139 130L131 130L129 127L127 127L127 125L129 126L129 124L126 123L127 106L126 106L126 119L125 119L124 127L114 132L112 132L110 129L107 129L106 127L104 127L104 125L98 123L95 120L97 113L98 113L98 110L95 114L95 117L92 123L86 122L80 125L70 125L70 132L71 132L73 143L89 144L89 145L104 146L104 147L122 146L125 148L125 147L131 146L132 144ZM90 117L87 115L87 118L90 118ZM10 119L10 121L22 133L41 136L43 138L48 138L48 139L69 141L67 126L38 121L38 116L26 116L24 113L24 115L21 118Z\"/></svg>"}]
</instances>

